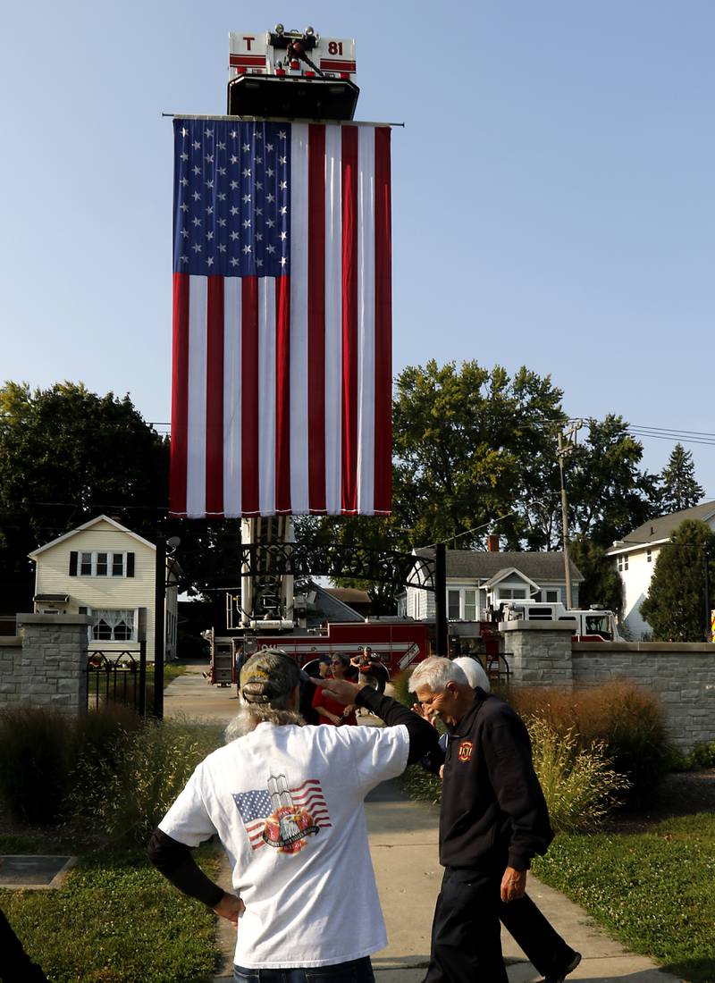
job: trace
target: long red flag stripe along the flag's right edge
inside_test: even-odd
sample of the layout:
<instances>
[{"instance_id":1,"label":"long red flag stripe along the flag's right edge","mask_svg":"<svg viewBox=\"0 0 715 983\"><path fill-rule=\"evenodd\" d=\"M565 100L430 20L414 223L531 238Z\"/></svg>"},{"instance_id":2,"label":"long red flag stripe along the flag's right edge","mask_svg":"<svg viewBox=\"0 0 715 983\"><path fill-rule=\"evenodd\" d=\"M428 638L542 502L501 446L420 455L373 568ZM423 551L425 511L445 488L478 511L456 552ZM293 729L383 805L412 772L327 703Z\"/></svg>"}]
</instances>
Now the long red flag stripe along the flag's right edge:
<instances>
[{"instance_id":1,"label":"long red flag stripe along the flag's right edge","mask_svg":"<svg viewBox=\"0 0 715 983\"><path fill-rule=\"evenodd\" d=\"M375 511L389 512L392 492L392 281L390 131L375 130Z\"/></svg>"}]
</instances>

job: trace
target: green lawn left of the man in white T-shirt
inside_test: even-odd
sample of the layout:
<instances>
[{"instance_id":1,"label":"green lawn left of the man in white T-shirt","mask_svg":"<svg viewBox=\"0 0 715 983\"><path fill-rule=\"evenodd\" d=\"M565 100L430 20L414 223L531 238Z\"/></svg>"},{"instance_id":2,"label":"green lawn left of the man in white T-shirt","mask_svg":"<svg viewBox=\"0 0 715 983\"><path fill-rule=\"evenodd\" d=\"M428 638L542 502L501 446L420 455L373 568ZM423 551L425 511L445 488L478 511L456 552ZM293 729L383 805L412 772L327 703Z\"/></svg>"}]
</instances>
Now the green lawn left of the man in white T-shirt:
<instances>
[{"instance_id":1,"label":"green lawn left of the man in white T-shirt","mask_svg":"<svg viewBox=\"0 0 715 983\"><path fill-rule=\"evenodd\" d=\"M2 852L42 849L46 842L0 838ZM200 862L215 876L213 853ZM142 851L86 855L57 891L0 891L0 906L52 983L199 983L216 965L212 913Z\"/></svg>"}]
</instances>

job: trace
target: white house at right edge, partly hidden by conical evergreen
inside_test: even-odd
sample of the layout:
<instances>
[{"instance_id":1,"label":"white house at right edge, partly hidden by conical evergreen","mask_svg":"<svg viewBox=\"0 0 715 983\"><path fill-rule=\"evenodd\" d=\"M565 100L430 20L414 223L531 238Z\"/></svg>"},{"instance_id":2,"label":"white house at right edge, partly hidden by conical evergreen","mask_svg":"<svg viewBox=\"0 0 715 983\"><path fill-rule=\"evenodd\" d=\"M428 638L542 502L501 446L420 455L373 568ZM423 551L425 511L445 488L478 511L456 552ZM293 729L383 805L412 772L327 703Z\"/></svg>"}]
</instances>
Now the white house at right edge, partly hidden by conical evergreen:
<instances>
[{"instance_id":1,"label":"white house at right edge, partly hidden by conical evergreen","mask_svg":"<svg viewBox=\"0 0 715 983\"><path fill-rule=\"evenodd\" d=\"M699 519L715 530L715 501L649 519L606 550L608 556L613 556L624 585L624 634L634 642L651 630L640 614L640 606L648 596L658 553L685 519Z\"/></svg>"}]
</instances>

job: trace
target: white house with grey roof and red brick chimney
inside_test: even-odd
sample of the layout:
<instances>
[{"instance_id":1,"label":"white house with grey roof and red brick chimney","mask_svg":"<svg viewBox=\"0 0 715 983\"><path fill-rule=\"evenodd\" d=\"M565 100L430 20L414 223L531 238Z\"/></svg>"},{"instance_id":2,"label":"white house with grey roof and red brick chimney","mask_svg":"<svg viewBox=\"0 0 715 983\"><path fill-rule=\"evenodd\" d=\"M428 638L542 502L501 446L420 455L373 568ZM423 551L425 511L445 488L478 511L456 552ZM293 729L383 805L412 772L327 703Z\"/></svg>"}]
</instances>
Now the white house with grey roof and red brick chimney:
<instances>
[{"instance_id":1,"label":"white house with grey roof and red brick chimney","mask_svg":"<svg viewBox=\"0 0 715 983\"><path fill-rule=\"evenodd\" d=\"M432 549L417 549L419 556L434 556ZM570 563L571 607L578 607L578 587L583 577ZM447 549L447 618L483 621L490 608L510 601L566 605L563 552L476 552ZM566 605L566 607L569 607ZM407 587L400 599L401 614L419 621L435 619L433 591Z\"/></svg>"}]
</instances>

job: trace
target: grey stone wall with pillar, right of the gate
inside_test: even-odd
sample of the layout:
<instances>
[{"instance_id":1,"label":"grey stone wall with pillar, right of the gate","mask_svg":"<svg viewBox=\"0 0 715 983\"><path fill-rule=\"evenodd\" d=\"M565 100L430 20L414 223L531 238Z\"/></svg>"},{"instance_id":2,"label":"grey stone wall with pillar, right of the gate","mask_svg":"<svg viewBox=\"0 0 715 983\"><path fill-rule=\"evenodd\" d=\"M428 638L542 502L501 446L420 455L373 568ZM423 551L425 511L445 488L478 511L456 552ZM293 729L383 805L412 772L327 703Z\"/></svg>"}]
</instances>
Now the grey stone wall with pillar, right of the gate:
<instances>
[{"instance_id":1,"label":"grey stone wall with pillar, right of the gate","mask_svg":"<svg viewBox=\"0 0 715 983\"><path fill-rule=\"evenodd\" d=\"M558 621L500 625L514 685L593 686L628 679L655 693L682 751L715 740L715 645L573 642Z\"/></svg>"}]
</instances>

